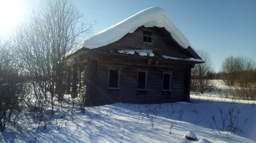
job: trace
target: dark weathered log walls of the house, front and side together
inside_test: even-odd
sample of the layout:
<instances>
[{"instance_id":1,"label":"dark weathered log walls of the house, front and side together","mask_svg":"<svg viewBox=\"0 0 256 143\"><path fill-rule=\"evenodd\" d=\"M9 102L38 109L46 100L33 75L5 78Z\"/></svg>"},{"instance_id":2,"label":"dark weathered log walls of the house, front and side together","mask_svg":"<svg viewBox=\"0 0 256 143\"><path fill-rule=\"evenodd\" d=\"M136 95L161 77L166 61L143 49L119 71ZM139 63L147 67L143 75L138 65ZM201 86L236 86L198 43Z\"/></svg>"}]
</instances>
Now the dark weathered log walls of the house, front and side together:
<instances>
[{"instance_id":1,"label":"dark weathered log walls of the house, front and side together","mask_svg":"<svg viewBox=\"0 0 256 143\"><path fill-rule=\"evenodd\" d=\"M137 55L119 55L102 52L86 52L75 57L68 65L66 93L76 97L76 77L79 66L86 66L86 106L112 103L160 104L189 101L192 61L166 60ZM77 60L84 59L84 60ZM79 63L77 63L79 61ZM121 70L120 89L108 89L109 68ZM70 70L71 69L71 70ZM137 71L148 71L147 90L138 91ZM68 72L69 71L69 72ZM172 72L172 91L162 91L163 72ZM70 75L70 76L68 76Z\"/></svg>"}]
</instances>

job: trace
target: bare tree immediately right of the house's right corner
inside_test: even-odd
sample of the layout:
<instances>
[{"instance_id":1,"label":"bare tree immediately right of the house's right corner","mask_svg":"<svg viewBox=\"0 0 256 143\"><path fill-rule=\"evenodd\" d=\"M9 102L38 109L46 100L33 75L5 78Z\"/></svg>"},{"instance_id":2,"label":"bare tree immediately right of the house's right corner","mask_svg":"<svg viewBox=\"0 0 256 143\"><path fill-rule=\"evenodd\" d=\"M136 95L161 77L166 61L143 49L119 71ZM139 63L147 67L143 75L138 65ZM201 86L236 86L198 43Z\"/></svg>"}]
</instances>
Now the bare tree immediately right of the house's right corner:
<instances>
[{"instance_id":1,"label":"bare tree immediately right of the house's right corner","mask_svg":"<svg viewBox=\"0 0 256 143\"><path fill-rule=\"evenodd\" d=\"M191 71L191 90L203 94L204 91L211 90L214 87L214 82L209 79L209 76L214 73L213 63L209 53L203 50L197 50L196 52L204 63L196 64Z\"/></svg>"}]
</instances>

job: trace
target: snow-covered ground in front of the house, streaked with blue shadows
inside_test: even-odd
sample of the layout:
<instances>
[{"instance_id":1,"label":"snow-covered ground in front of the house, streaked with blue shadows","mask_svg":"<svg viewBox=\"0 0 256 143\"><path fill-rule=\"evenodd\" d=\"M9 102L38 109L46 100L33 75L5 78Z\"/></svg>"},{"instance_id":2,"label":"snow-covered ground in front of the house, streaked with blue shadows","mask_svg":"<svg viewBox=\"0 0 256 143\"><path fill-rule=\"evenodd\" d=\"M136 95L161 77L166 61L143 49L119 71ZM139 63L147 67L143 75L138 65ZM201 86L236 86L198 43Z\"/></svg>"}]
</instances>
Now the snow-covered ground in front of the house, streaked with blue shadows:
<instances>
[{"instance_id":1,"label":"snow-covered ground in front of the house, streaked with blue shadows","mask_svg":"<svg viewBox=\"0 0 256 143\"><path fill-rule=\"evenodd\" d=\"M218 84L217 88L226 88ZM153 126L153 128L152 128ZM192 131L197 140L185 138ZM230 132L227 132L230 131ZM0 143L255 143L256 102L229 100L217 90L191 95L191 103L112 104L79 108L46 130L7 127Z\"/></svg>"}]
</instances>

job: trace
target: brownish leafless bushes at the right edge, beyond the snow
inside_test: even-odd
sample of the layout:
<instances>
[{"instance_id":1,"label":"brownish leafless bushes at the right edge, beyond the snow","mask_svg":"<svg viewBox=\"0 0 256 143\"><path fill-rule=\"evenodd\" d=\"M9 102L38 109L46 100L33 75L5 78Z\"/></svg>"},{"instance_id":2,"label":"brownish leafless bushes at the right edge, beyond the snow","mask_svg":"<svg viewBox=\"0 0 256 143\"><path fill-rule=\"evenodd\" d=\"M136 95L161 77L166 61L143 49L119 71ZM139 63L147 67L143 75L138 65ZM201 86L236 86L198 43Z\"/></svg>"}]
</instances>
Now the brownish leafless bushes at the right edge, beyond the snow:
<instances>
[{"instance_id":1,"label":"brownish leafless bushes at the right edge, beyond the snow","mask_svg":"<svg viewBox=\"0 0 256 143\"><path fill-rule=\"evenodd\" d=\"M235 89L234 98L256 100L256 64L245 57L227 57L222 63L224 83Z\"/></svg>"}]
</instances>

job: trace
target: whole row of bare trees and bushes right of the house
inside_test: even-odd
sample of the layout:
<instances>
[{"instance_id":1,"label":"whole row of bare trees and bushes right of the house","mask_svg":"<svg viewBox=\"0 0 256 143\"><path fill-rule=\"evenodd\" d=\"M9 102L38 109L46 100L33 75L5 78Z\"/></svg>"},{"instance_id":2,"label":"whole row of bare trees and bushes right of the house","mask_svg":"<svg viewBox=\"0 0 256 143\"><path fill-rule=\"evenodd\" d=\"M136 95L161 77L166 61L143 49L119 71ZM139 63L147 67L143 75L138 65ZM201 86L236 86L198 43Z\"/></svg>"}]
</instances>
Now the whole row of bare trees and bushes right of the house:
<instances>
[{"instance_id":1,"label":"whole row of bare trees and bushes right of the house","mask_svg":"<svg viewBox=\"0 0 256 143\"><path fill-rule=\"evenodd\" d=\"M211 79L222 80L226 86L233 87L226 91L226 97L243 100L256 100L256 63L253 59L242 56L229 56L222 63L221 72L214 72L210 55L197 51L205 63L197 64L192 69L191 91L204 93L215 88Z\"/></svg>"}]
</instances>

